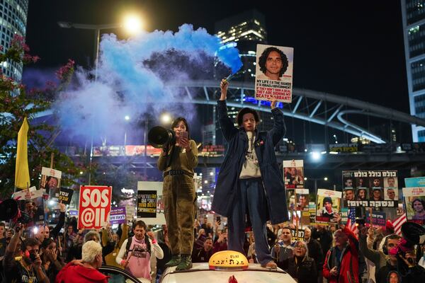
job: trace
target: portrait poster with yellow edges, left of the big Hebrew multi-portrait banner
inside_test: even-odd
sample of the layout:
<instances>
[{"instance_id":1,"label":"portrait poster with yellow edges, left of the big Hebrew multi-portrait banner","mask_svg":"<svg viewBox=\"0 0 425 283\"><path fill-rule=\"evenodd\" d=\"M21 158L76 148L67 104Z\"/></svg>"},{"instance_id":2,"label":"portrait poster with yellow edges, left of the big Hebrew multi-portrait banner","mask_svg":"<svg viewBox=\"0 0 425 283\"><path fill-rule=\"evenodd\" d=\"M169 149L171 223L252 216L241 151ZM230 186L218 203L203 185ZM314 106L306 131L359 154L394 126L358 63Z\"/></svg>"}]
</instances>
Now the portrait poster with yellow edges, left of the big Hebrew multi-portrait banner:
<instances>
[{"instance_id":1,"label":"portrait poster with yellow edges, left of the big Hebrew multi-portrait banner","mask_svg":"<svg viewBox=\"0 0 425 283\"><path fill-rule=\"evenodd\" d=\"M316 222L336 223L335 214L341 209L341 192L317 190Z\"/></svg>"}]
</instances>

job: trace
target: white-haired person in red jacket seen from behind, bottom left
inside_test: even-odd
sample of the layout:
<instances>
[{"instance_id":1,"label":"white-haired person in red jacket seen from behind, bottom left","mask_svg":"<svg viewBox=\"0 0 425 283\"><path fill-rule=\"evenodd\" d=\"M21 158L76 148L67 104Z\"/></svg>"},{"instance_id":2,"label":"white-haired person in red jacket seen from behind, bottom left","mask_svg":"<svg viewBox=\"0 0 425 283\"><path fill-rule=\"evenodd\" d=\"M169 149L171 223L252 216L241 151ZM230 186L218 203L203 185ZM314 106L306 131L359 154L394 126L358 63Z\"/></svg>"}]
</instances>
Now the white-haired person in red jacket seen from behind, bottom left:
<instances>
[{"instance_id":1,"label":"white-haired person in red jacket seen from behind, bottom left","mask_svg":"<svg viewBox=\"0 0 425 283\"><path fill-rule=\"evenodd\" d=\"M97 270L102 265L102 246L95 241L84 243L82 265L69 262L57 275L56 283L103 283L108 276Z\"/></svg>"}]
</instances>

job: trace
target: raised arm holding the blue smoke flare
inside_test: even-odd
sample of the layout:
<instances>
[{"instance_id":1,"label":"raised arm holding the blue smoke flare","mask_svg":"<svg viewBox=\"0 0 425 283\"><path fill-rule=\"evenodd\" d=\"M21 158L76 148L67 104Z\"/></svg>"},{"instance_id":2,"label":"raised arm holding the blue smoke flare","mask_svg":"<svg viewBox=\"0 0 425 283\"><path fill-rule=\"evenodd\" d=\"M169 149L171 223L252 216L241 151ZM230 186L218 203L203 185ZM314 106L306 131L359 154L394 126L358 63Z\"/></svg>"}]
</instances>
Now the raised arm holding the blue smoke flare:
<instances>
[{"instance_id":1,"label":"raised arm holding the blue smoke flare","mask_svg":"<svg viewBox=\"0 0 425 283\"><path fill-rule=\"evenodd\" d=\"M234 127L232 119L230 119L229 115L227 115L226 98L228 86L229 83L223 79L220 83L220 100L217 101L218 122L220 122L220 127L226 141L230 141L230 139L237 134L237 128Z\"/></svg>"}]
</instances>

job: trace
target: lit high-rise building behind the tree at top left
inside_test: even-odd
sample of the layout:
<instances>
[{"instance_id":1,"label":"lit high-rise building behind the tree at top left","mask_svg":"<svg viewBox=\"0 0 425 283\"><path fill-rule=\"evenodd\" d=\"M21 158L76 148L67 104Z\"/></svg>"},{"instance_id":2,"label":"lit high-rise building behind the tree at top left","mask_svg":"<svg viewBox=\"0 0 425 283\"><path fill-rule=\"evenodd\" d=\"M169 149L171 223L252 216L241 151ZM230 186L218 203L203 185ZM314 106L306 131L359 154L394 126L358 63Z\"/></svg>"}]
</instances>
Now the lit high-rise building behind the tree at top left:
<instances>
[{"instance_id":1,"label":"lit high-rise building behind the tree at top left","mask_svg":"<svg viewBox=\"0 0 425 283\"><path fill-rule=\"evenodd\" d=\"M13 35L26 35L26 23L28 15L28 0L0 0L0 37L1 46L5 52L10 47ZM22 64L16 62L0 62L1 71L4 75L21 81Z\"/></svg>"}]
</instances>

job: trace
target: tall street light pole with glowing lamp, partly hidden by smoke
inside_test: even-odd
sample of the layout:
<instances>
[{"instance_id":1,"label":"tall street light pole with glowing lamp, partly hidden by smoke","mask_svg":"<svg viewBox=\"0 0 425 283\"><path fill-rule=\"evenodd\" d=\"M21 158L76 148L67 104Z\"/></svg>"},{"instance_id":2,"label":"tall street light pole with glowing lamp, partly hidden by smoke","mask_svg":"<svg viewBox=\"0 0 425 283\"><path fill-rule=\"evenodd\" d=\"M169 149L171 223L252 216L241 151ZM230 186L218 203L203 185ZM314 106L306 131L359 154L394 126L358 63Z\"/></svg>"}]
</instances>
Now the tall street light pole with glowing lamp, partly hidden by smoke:
<instances>
[{"instance_id":1,"label":"tall street light pole with glowing lamp, partly hidden by smoke","mask_svg":"<svg viewBox=\"0 0 425 283\"><path fill-rule=\"evenodd\" d=\"M125 23L108 23L102 25L90 25L86 23L71 23L58 21L57 24L60 28L78 28L81 30L94 30L94 81L97 81L97 70L98 70L98 57L99 57L99 42L101 37L101 30L108 30L112 28L123 28L125 27L130 33L136 33L141 29L141 21L137 17L130 15L125 19ZM90 142L90 157L89 157L89 185L91 185L91 163L93 161L93 127L94 121L91 124L91 142ZM127 134L127 133L126 133Z\"/></svg>"}]
</instances>

